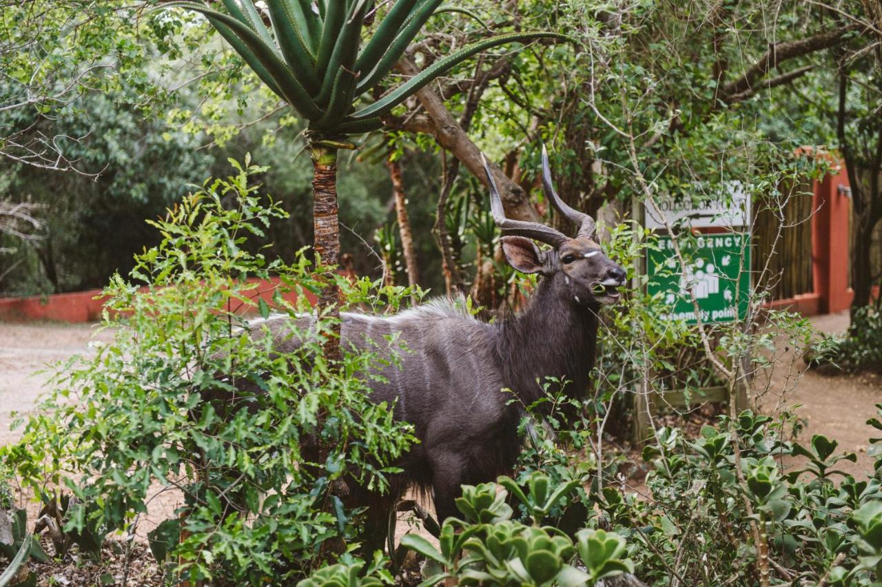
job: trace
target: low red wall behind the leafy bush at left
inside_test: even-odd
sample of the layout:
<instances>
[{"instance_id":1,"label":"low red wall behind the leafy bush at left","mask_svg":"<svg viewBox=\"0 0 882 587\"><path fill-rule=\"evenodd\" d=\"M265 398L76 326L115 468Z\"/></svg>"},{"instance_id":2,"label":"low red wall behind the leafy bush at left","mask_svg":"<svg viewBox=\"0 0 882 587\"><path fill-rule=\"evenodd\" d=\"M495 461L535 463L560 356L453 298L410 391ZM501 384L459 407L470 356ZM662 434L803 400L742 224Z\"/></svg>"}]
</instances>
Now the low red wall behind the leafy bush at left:
<instances>
[{"instance_id":1,"label":"low red wall behind the leafy bush at left","mask_svg":"<svg viewBox=\"0 0 882 587\"><path fill-rule=\"evenodd\" d=\"M254 305L242 304L235 311L242 314L257 312L258 297L273 304L273 292L279 287L280 279L249 279L258 282L258 287L250 293ZM306 294L310 304L316 303L316 296ZM297 296L293 292L282 294L286 301L294 303ZM54 320L57 322L97 322L101 320L101 308L106 297L100 289L72 294L34 295L27 298L0 298L0 321L31 322L35 320Z\"/></svg>"}]
</instances>

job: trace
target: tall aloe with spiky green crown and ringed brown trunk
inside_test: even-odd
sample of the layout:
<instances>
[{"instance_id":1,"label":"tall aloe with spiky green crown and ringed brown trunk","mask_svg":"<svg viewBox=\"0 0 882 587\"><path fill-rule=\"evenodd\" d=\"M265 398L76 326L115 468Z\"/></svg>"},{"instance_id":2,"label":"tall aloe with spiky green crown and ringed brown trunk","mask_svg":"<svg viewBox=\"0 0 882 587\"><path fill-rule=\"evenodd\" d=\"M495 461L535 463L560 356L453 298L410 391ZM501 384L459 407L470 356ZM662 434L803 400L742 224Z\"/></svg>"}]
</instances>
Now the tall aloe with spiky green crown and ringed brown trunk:
<instances>
[{"instance_id":1,"label":"tall aloe with spiky green crown and ringed brown trunk","mask_svg":"<svg viewBox=\"0 0 882 587\"><path fill-rule=\"evenodd\" d=\"M507 42L566 38L559 33L508 33L477 41L373 100L370 96L386 89L395 63L442 0L382 3L388 11L365 42L365 19L372 19L376 11L372 0L222 2L224 11L196 2L163 7L205 15L273 93L309 123L315 249L328 265L337 264L340 252L336 160L338 150L355 148L349 136L381 128L382 117L392 108L476 53ZM325 292L320 303L335 306L336 298L335 292Z\"/></svg>"}]
</instances>

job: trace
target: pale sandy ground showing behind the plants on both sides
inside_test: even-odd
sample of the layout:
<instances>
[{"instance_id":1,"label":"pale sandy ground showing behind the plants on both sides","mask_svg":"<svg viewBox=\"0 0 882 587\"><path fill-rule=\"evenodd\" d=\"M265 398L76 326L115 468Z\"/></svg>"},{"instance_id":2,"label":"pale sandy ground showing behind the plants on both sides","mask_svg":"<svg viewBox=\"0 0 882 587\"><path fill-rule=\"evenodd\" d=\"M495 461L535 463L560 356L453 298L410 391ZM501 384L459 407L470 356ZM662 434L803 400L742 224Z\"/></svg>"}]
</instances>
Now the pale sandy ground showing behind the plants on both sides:
<instances>
[{"instance_id":1,"label":"pale sandy ground showing behind the plants on both sides","mask_svg":"<svg viewBox=\"0 0 882 587\"><path fill-rule=\"evenodd\" d=\"M848 314L818 316L812 323L821 331L841 332L848 327ZM90 353L90 340L109 338L109 332L96 335L95 327L87 324L0 323L0 444L19 438L20 431L9 429L12 414L34 409L53 363L75 353ZM790 360L784 348L778 350L771 383L758 381L766 391L761 402L764 411L793 408L805 424L804 442L816 433L838 440L841 450L855 451L858 457L856 464L843 462L840 468L863 477L872 467L872 459L866 454L868 438L876 435L865 422L875 415L874 405L882 402L882 379L874 375L827 377L814 372L796 379L790 366L792 363L794 370L801 371L802 361ZM154 524L172 516L179 499L172 492L154 498L145 523L139 524L138 536L145 537ZM402 519L398 533L406 529Z\"/></svg>"}]
</instances>

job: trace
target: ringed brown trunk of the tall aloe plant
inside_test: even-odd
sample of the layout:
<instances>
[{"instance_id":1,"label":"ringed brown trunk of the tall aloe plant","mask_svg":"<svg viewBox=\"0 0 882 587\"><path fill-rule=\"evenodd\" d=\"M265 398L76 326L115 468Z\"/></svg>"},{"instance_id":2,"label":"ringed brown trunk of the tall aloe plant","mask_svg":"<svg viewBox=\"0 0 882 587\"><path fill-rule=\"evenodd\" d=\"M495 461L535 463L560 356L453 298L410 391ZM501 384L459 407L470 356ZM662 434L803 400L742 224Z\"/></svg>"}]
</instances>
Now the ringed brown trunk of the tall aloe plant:
<instances>
[{"instance_id":1,"label":"ringed brown trunk of the tall aloe plant","mask_svg":"<svg viewBox=\"0 0 882 587\"><path fill-rule=\"evenodd\" d=\"M313 249L322 267L340 262L340 223L337 220L337 147L310 141L312 158ZM317 264L318 266L318 264ZM332 337L325 343L325 358L340 360L340 288L328 284L318 296L318 312L334 320Z\"/></svg>"}]
</instances>

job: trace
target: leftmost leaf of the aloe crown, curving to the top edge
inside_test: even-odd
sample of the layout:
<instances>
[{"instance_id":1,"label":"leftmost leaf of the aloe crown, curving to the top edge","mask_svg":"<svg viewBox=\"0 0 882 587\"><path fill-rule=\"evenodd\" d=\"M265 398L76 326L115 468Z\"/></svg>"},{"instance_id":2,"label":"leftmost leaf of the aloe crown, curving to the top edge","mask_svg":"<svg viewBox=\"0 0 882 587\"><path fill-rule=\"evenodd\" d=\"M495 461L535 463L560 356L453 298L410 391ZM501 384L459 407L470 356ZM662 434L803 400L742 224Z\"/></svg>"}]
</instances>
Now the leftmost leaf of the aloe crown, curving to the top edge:
<instances>
[{"instance_id":1,"label":"leftmost leaf of the aloe crown, curving to the top edge","mask_svg":"<svg viewBox=\"0 0 882 587\"><path fill-rule=\"evenodd\" d=\"M308 120L318 120L322 112L312 101L310 94L306 92L303 85L297 80L295 75L288 69L288 66L276 54L273 48L270 48L258 33L255 33L249 26L243 24L223 12L212 10L202 4L193 2L170 2L162 4L162 8L186 8L191 11L197 11L204 14L209 21L220 21L222 25L231 29L236 36L242 41L247 48L242 53L246 63L252 60L258 61L262 68L270 75L275 85L278 86L281 96L295 108L300 115ZM219 31L220 32L220 31ZM234 46L235 48L235 46ZM259 72L255 70L255 73Z\"/></svg>"}]
</instances>

